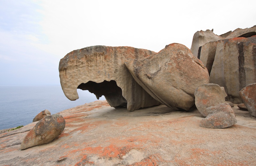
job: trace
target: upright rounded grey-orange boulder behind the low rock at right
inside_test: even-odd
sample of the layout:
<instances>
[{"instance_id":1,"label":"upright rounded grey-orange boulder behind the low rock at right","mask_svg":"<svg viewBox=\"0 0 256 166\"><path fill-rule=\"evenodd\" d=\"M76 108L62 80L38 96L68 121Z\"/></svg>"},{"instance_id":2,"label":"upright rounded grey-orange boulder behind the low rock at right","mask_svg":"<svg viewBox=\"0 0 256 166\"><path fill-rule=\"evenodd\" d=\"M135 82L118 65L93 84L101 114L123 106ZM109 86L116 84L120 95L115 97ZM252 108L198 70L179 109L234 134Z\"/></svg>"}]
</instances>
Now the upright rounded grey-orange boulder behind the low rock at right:
<instances>
[{"instance_id":1,"label":"upright rounded grey-orange boulder behind the low rock at right","mask_svg":"<svg viewBox=\"0 0 256 166\"><path fill-rule=\"evenodd\" d=\"M198 111L206 117L206 108L225 102L227 94L223 87L214 83L200 85L195 91L195 104Z\"/></svg>"}]
</instances>

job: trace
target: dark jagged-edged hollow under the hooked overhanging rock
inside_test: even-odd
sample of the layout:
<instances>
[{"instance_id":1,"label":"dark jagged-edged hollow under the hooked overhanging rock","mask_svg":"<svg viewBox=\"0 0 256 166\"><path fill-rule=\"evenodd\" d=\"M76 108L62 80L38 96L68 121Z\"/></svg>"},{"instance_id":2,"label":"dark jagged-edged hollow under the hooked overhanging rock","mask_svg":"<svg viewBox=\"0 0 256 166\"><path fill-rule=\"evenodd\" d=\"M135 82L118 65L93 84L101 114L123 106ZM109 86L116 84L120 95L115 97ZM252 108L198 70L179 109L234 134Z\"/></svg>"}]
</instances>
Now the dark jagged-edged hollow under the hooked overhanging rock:
<instances>
[{"instance_id":1,"label":"dark jagged-edged hollow under the hooked overhanging rock","mask_svg":"<svg viewBox=\"0 0 256 166\"><path fill-rule=\"evenodd\" d=\"M117 86L114 80L104 80L101 83L88 81L87 83L81 83L77 89L88 90L94 93L97 99L104 95L111 107L119 108L127 106L127 101L122 96L122 89Z\"/></svg>"}]
</instances>

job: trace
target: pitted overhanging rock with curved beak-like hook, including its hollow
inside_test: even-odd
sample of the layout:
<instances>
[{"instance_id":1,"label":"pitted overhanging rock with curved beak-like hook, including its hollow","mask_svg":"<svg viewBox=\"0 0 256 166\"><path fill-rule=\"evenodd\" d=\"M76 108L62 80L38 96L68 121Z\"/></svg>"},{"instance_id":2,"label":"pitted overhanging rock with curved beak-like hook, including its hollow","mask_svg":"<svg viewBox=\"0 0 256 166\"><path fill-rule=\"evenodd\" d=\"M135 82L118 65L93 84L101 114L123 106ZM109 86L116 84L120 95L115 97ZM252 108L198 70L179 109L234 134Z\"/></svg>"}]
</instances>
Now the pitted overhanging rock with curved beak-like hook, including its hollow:
<instances>
[{"instance_id":1,"label":"pitted overhanging rock with curved beak-like hook, including its hollow","mask_svg":"<svg viewBox=\"0 0 256 166\"><path fill-rule=\"evenodd\" d=\"M66 97L78 99L76 89L89 90L99 99L104 95L112 107L129 111L160 103L136 83L124 63L155 55L133 47L91 46L68 53L60 60L60 84Z\"/></svg>"}]
</instances>

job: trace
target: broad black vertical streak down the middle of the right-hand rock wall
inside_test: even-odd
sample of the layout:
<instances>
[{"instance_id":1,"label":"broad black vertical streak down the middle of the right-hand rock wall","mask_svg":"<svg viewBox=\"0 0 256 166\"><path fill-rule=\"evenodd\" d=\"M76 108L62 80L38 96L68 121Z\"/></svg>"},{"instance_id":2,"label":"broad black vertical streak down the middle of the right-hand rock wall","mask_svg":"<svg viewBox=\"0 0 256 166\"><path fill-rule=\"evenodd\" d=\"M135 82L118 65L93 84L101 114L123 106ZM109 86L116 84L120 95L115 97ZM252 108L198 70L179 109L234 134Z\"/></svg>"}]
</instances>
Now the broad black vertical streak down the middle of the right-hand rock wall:
<instances>
[{"instance_id":1,"label":"broad black vertical streak down the middle of the right-hand rock wall","mask_svg":"<svg viewBox=\"0 0 256 166\"><path fill-rule=\"evenodd\" d=\"M238 72L239 72L239 90L242 90L245 85L245 69L244 69L244 43L237 43L238 48Z\"/></svg>"}]
</instances>

